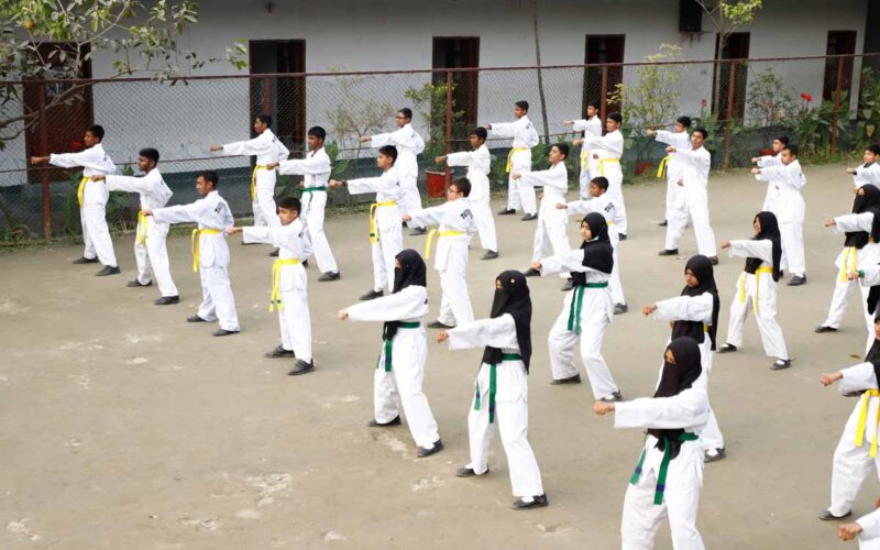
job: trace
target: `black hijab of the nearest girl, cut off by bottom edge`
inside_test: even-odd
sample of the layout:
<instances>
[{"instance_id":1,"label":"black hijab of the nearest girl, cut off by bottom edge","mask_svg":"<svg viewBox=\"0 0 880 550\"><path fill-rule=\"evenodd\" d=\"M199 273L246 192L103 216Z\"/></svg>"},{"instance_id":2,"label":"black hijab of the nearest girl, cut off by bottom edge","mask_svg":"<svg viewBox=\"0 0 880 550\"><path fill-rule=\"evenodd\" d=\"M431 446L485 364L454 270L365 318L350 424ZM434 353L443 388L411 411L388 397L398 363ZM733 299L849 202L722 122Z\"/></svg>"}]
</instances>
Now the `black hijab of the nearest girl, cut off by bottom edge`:
<instances>
[{"instance_id":1,"label":"black hijab of the nearest girl, cut off by bottom edge","mask_svg":"<svg viewBox=\"0 0 880 550\"><path fill-rule=\"evenodd\" d=\"M660 383L657 385L657 391L653 393L654 397L672 397L679 395L690 388L703 372L700 362L700 345L693 338L676 338L669 343L667 350L672 351L675 364L673 365L667 361L666 353L663 353L663 372L660 375ZM658 439L657 449L661 451L666 450L666 441L663 438L669 438L670 444L672 446L670 449L670 458L674 459L679 455L679 451L681 450L679 436L684 433L683 429L650 429L648 433Z\"/></svg>"}]
</instances>

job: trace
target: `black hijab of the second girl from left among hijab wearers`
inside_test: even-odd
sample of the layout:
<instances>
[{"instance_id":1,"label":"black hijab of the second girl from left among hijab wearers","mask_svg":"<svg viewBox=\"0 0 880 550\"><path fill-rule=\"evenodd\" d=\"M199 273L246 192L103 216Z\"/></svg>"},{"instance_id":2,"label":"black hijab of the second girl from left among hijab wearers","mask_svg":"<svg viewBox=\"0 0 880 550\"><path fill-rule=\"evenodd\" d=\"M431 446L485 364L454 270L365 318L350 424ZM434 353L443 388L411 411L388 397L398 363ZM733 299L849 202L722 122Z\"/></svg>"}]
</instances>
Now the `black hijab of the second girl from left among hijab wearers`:
<instances>
[{"instance_id":1,"label":"black hijab of the second girl from left among hijab wearers","mask_svg":"<svg viewBox=\"0 0 880 550\"><path fill-rule=\"evenodd\" d=\"M495 298L492 300L493 319L509 314L516 323L516 339L519 342L519 354L529 372L531 361L531 297L526 277L517 271L502 272L495 279L502 287L495 287ZM502 350L490 348L483 351L483 363L497 364L502 362Z\"/></svg>"}]
</instances>

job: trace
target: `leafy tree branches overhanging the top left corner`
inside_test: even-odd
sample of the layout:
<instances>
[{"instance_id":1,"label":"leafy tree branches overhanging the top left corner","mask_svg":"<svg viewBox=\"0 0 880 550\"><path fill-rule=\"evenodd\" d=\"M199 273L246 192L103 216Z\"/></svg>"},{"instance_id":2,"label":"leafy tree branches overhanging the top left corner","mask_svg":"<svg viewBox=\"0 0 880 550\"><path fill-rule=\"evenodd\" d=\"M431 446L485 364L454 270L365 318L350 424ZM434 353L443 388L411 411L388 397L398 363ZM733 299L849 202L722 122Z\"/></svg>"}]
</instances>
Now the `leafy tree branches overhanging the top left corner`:
<instances>
[{"instance_id":1,"label":"leafy tree branches overhanging the top left corner","mask_svg":"<svg viewBox=\"0 0 880 550\"><path fill-rule=\"evenodd\" d=\"M198 2L157 0L3 0L0 2L0 150L35 124L38 111L22 100L15 80L79 78L98 52L111 53L108 78L147 75L166 80L218 58L184 51L178 38L198 22ZM243 68L242 43L226 59ZM46 111L81 101L87 82L65 85Z\"/></svg>"}]
</instances>

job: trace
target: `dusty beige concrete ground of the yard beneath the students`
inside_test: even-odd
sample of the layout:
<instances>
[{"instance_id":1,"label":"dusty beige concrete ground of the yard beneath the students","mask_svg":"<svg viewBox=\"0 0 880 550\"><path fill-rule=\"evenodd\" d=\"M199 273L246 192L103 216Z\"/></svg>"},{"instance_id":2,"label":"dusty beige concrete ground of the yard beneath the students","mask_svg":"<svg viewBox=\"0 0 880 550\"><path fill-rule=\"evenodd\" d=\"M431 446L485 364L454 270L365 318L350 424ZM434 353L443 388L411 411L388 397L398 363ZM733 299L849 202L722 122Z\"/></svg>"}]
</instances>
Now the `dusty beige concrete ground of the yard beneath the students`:
<instances>
[{"instance_id":1,"label":"dusty beige concrete ground of the yard beneath the students","mask_svg":"<svg viewBox=\"0 0 880 550\"><path fill-rule=\"evenodd\" d=\"M844 166L807 167L806 286L781 287L780 321L794 366L771 372L754 320L740 353L719 355L712 404L728 458L705 469L698 527L708 548L838 547L837 525L816 519L828 503L832 453L855 402L818 384L857 362L865 327L853 302L839 333L824 319L843 238L822 228L848 212ZM675 296L684 257L658 257L664 184L627 187L630 238L622 248L630 312L615 318L605 358L625 397L653 392L669 334L641 306ZM749 238L763 184L745 172L713 175L718 241ZM570 194L573 196L574 194ZM493 205L502 206L499 198ZM495 275L525 268L534 223L497 219L501 258L469 277L477 317ZM546 336L560 311L556 278L529 279L535 304L529 439L551 505L519 513L499 441L491 475L455 477L468 461L466 415L480 351L429 342L426 394L446 450L419 460L407 428L369 429L378 323L341 323L337 311L372 284L365 215L333 218L330 242L342 279L309 268L314 374L288 377L289 361L263 359L278 343L267 311L267 248L232 248L232 286L243 331L217 339L184 322L201 292L189 241L168 242L183 302L154 307L155 287L125 288L133 237L117 241L121 276L70 265L78 246L0 255L0 548L615 548L627 481L642 433L614 430L591 411L586 385L550 386ZM571 227L571 242L576 243ZM424 238L407 237L421 250ZM689 231L684 254L694 253ZM722 256L719 337L740 260ZM430 271L431 312L440 288ZM430 320L430 319L428 319ZM430 334L432 337L432 334ZM870 481L854 513L872 509ZM658 548L669 548L668 525ZM843 548L843 547L842 547ZM855 543L848 544L855 548Z\"/></svg>"}]
</instances>

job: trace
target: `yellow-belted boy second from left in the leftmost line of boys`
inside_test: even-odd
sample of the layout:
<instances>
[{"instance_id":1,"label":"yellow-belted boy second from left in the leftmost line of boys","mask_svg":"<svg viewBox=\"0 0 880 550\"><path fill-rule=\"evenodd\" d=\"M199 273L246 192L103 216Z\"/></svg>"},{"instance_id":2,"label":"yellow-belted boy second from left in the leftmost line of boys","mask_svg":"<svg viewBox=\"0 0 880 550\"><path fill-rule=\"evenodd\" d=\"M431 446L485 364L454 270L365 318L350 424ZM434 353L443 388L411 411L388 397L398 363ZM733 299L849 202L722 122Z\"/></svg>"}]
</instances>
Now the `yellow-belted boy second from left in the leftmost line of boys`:
<instances>
[{"instance_id":1,"label":"yellow-belted boy second from left in the leftmost line of boys","mask_svg":"<svg viewBox=\"0 0 880 550\"><path fill-rule=\"evenodd\" d=\"M127 286L130 288L150 286L155 277L162 296L153 304L167 306L180 302L177 286L172 279L168 250L165 248L168 224L158 223L155 219L143 215L144 210L163 208L173 195L165 185L157 164L158 151L146 147L138 153L138 167L144 173L142 177L108 175L95 176L94 179L103 179L108 191L136 193L140 196L141 212L138 213L138 229L134 232L134 260L138 263L138 276Z\"/></svg>"}]
</instances>

